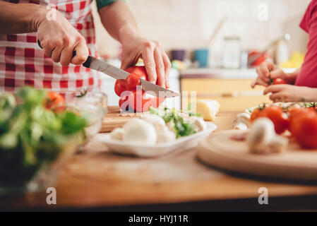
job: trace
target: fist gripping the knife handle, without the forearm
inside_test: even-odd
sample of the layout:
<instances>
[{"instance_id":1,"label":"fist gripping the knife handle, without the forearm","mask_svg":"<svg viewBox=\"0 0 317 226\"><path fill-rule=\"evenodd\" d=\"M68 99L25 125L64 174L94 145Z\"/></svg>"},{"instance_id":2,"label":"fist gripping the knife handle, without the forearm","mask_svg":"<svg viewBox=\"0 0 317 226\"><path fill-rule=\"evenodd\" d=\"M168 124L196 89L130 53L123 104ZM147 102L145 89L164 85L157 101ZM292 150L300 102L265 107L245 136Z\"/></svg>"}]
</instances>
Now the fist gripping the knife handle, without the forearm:
<instances>
[{"instance_id":1,"label":"fist gripping the knife handle, without the forearm","mask_svg":"<svg viewBox=\"0 0 317 226\"><path fill-rule=\"evenodd\" d=\"M56 11L56 20L41 20L37 28L37 37L47 57L62 66L68 64L83 64L88 58L88 47L85 38L73 28L71 23ZM73 57L73 51L76 56Z\"/></svg>"}]
</instances>

